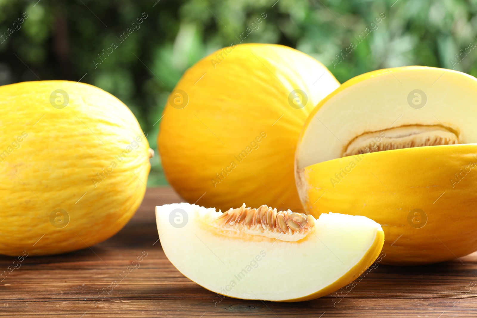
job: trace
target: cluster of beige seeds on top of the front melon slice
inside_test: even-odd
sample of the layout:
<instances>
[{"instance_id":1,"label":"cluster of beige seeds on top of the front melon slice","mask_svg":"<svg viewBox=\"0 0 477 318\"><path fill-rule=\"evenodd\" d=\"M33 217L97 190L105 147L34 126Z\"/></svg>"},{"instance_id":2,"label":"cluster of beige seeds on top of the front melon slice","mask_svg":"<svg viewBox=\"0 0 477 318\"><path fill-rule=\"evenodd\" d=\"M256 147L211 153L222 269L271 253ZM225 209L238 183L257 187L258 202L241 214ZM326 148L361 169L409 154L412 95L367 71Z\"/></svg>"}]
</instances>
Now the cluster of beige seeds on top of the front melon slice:
<instances>
[{"instance_id":1,"label":"cluster of beige seeds on top of the front melon slice","mask_svg":"<svg viewBox=\"0 0 477 318\"><path fill-rule=\"evenodd\" d=\"M307 232L315 226L313 216L303 213L288 211L277 212L267 205L261 205L258 209L245 207L245 203L238 209L230 209L217 218L220 225L247 226L248 228L261 227L263 230L271 230L281 233L293 234L295 232Z\"/></svg>"}]
</instances>

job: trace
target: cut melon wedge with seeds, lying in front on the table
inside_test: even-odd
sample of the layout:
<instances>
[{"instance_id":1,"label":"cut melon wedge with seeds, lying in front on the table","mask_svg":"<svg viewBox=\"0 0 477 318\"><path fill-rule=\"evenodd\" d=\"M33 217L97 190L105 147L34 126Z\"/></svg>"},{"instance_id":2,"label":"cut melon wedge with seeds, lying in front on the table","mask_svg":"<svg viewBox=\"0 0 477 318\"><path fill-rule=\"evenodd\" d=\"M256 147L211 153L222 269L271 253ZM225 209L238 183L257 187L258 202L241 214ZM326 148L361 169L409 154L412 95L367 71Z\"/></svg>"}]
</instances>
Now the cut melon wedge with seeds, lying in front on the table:
<instances>
[{"instance_id":1,"label":"cut melon wedge with seeds, lying in front on the table","mask_svg":"<svg viewBox=\"0 0 477 318\"><path fill-rule=\"evenodd\" d=\"M156 220L162 248L182 274L242 299L291 302L332 293L371 266L384 242L381 226L364 216L330 213L315 220L267 206L222 214L162 205Z\"/></svg>"}]
</instances>

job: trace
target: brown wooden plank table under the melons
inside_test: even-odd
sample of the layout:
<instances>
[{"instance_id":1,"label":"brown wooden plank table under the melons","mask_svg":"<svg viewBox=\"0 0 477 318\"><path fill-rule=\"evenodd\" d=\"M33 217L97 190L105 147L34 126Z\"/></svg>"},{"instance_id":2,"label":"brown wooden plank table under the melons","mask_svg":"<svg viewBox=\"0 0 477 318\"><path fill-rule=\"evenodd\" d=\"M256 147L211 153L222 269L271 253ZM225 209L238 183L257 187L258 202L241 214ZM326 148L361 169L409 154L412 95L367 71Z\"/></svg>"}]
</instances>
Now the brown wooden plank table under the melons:
<instances>
[{"instance_id":1,"label":"brown wooden plank table under the melons","mask_svg":"<svg viewBox=\"0 0 477 318\"><path fill-rule=\"evenodd\" d=\"M161 200L181 198L169 188L150 189L136 215L109 240L73 253L25 258L0 284L0 316L477 317L477 253L432 266L379 265L354 288L308 302L220 297L167 260L154 215ZM145 257L132 263L137 256ZM0 256L1 271L12 262Z\"/></svg>"}]
</instances>

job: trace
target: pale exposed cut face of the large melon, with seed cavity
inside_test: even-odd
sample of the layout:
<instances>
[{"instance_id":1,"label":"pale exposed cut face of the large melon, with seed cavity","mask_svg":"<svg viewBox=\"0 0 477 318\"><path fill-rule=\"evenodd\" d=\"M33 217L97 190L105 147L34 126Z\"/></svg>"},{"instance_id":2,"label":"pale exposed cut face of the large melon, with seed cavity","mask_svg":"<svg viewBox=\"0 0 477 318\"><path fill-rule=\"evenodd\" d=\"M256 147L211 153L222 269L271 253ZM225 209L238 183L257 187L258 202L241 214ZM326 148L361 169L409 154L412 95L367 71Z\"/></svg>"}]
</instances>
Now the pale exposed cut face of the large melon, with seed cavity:
<instances>
[{"instance_id":1,"label":"pale exposed cut face of the large melon, with seed cavity","mask_svg":"<svg viewBox=\"0 0 477 318\"><path fill-rule=\"evenodd\" d=\"M358 153L477 143L476 88L473 76L425 66L359 75L311 113L298 143L296 168ZM444 140L436 142L436 136ZM367 139L361 143L368 148L349 152L359 139ZM392 143L394 148L376 148Z\"/></svg>"}]
</instances>

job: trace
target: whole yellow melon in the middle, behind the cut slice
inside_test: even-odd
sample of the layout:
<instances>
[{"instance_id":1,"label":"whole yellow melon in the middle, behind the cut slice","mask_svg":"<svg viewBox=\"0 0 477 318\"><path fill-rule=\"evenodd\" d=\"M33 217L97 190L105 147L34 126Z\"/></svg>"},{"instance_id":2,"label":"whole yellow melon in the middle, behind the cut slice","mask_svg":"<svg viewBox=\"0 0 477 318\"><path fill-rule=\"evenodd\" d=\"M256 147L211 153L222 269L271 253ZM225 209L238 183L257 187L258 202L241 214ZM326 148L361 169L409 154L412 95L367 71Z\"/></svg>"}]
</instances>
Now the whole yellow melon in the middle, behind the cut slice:
<instances>
[{"instance_id":1,"label":"whole yellow melon in the middle, behind the cut slice","mask_svg":"<svg viewBox=\"0 0 477 318\"><path fill-rule=\"evenodd\" d=\"M168 182L206 207L302 208L296 142L313 107L338 86L320 62L289 47L212 53L187 70L166 104L158 145ZM304 107L291 106L293 90L305 92Z\"/></svg>"}]
</instances>

